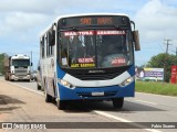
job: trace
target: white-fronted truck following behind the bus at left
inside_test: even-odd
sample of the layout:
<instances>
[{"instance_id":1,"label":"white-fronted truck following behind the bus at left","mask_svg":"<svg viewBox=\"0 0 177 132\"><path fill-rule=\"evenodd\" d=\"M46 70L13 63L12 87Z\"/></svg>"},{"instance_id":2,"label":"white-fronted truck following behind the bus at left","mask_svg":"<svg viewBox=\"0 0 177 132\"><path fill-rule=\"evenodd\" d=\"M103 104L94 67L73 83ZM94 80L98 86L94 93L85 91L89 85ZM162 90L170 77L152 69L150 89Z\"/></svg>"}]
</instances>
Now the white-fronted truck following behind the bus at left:
<instances>
[{"instance_id":1,"label":"white-fronted truck following behind the bus at left","mask_svg":"<svg viewBox=\"0 0 177 132\"><path fill-rule=\"evenodd\" d=\"M23 54L4 57L4 79L30 81L30 57Z\"/></svg>"}]
</instances>

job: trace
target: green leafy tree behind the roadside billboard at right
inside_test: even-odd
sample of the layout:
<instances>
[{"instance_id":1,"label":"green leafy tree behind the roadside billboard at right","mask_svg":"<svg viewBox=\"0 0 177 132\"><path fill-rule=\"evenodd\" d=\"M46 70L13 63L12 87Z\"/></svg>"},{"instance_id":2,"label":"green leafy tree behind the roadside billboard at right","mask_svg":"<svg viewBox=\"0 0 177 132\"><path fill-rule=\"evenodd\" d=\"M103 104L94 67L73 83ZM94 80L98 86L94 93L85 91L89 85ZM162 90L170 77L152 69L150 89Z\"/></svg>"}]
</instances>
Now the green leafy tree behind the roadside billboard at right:
<instances>
[{"instance_id":1,"label":"green leafy tree behind the roadside billboard at right","mask_svg":"<svg viewBox=\"0 0 177 132\"><path fill-rule=\"evenodd\" d=\"M177 65L177 56L160 53L156 56L153 56L147 63L147 67L165 68L165 81L170 79L170 67L171 65Z\"/></svg>"}]
</instances>

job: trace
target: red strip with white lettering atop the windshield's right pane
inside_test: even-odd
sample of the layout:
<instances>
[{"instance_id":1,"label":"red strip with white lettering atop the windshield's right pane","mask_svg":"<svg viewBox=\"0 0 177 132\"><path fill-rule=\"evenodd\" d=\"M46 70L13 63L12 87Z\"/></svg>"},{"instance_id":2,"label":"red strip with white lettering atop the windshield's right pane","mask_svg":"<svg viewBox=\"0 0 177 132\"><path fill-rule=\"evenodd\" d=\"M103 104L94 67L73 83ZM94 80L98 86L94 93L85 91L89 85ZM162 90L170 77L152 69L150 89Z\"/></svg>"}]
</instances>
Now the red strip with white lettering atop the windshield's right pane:
<instances>
[{"instance_id":1,"label":"red strip with white lettering atop the windshield's right pane","mask_svg":"<svg viewBox=\"0 0 177 132\"><path fill-rule=\"evenodd\" d=\"M117 30L104 30L104 31L96 31L96 35L125 35L125 31L117 31Z\"/></svg>"}]
</instances>

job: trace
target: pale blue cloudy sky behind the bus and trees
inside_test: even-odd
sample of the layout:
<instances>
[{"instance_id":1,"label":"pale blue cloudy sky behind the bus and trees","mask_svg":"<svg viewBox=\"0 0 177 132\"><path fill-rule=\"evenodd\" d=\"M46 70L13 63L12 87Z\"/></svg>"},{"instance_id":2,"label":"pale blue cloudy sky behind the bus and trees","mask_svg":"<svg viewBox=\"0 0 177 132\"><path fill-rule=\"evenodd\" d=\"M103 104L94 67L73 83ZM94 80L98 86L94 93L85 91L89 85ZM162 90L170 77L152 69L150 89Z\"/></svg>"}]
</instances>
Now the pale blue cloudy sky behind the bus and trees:
<instances>
[{"instance_id":1,"label":"pale blue cloudy sky behind the bus and trees","mask_svg":"<svg viewBox=\"0 0 177 132\"><path fill-rule=\"evenodd\" d=\"M73 13L126 13L139 31L135 65L146 65L159 53L177 47L176 0L0 0L0 54L27 54L37 68L40 33L59 15Z\"/></svg>"}]
</instances>

